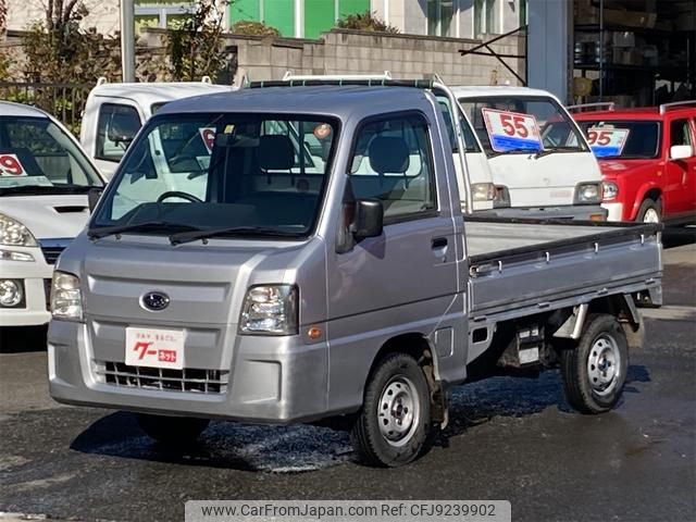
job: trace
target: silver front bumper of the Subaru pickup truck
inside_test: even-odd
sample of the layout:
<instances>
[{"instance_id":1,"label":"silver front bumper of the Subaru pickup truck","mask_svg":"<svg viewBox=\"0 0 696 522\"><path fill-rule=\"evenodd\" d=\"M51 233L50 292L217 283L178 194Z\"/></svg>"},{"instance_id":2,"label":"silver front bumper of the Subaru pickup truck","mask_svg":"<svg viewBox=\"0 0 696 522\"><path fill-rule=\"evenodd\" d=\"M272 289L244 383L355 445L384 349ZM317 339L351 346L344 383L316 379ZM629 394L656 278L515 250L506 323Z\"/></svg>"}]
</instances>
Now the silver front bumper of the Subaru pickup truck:
<instances>
[{"instance_id":1,"label":"silver front bumper of the Subaru pickup truck","mask_svg":"<svg viewBox=\"0 0 696 522\"><path fill-rule=\"evenodd\" d=\"M236 325L228 330L236 332ZM326 417L325 343L306 344L300 336L232 334L229 338L235 339L232 368L213 377L214 382L225 381L224 385L203 383L207 373L196 374L197 381L166 370L163 374L170 381L162 381L157 370L153 377L152 370L132 366L117 366L120 375L104 377L94 359L87 325L54 320L48 333L50 394L69 405L163 415L281 424ZM170 387L163 388L162 383ZM171 383L181 388L174 389Z\"/></svg>"}]
</instances>

